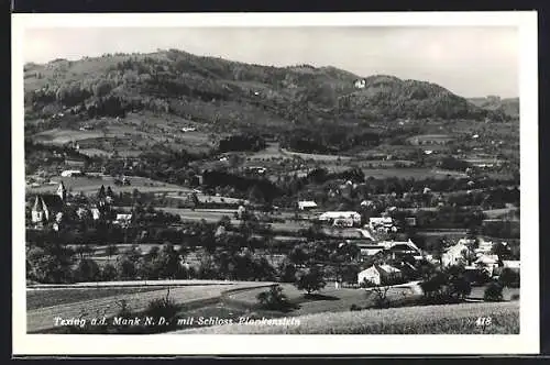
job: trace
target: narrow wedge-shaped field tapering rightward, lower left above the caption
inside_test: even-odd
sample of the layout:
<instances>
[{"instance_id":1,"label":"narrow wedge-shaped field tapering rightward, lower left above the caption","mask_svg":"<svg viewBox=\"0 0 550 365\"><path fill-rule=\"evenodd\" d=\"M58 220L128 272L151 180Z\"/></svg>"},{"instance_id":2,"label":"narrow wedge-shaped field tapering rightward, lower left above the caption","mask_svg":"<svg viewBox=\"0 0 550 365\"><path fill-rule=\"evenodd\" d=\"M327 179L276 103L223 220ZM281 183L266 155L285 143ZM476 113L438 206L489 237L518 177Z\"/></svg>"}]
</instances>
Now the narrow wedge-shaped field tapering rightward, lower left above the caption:
<instances>
[{"instance_id":1,"label":"narrow wedge-shaped field tapering rightward, lower left above the caption","mask_svg":"<svg viewBox=\"0 0 550 365\"><path fill-rule=\"evenodd\" d=\"M26 310L67 305L89 299L98 299L128 294L140 294L164 288L86 288L86 289L36 289L26 291Z\"/></svg>"}]
</instances>

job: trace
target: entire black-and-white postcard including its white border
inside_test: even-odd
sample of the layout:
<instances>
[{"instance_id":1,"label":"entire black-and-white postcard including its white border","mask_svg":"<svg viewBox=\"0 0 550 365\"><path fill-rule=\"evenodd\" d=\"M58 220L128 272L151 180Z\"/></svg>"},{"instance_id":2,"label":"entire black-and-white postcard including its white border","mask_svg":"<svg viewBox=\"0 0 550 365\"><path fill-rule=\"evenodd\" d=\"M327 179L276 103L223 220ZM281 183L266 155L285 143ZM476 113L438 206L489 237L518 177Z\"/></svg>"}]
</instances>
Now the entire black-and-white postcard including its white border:
<instances>
[{"instance_id":1,"label":"entire black-and-white postcard including its white border","mask_svg":"<svg viewBox=\"0 0 550 365\"><path fill-rule=\"evenodd\" d=\"M12 26L15 354L538 353L536 12Z\"/></svg>"}]
</instances>

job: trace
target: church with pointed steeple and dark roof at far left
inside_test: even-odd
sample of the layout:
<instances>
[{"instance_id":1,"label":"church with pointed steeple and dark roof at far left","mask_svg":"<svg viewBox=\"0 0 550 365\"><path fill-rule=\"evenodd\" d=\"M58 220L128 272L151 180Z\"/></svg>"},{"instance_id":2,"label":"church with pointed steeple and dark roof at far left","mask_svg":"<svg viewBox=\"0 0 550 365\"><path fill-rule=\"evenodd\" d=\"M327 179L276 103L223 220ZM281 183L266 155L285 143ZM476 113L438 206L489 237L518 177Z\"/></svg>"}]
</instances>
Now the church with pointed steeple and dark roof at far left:
<instances>
[{"instance_id":1,"label":"church with pointed steeple and dark roof at far left","mask_svg":"<svg viewBox=\"0 0 550 365\"><path fill-rule=\"evenodd\" d=\"M41 228L46 223L56 222L63 217L63 209L67 201L67 189L63 181L55 193L40 193L34 199L31 210L31 222Z\"/></svg>"}]
</instances>

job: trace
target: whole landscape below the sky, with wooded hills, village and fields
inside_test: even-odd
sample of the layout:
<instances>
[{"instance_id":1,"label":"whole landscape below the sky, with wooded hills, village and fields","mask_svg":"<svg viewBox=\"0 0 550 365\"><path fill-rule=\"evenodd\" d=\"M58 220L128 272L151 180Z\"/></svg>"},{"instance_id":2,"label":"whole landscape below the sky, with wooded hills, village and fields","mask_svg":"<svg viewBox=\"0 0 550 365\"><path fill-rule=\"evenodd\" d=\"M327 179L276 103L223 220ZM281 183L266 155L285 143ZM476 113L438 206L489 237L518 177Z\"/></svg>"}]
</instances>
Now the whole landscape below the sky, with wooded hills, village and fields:
<instances>
[{"instance_id":1,"label":"whole landscape below the sky, with wooded hills, village and fields","mask_svg":"<svg viewBox=\"0 0 550 365\"><path fill-rule=\"evenodd\" d=\"M24 73L29 333L516 331L517 98L172 48Z\"/></svg>"}]
</instances>

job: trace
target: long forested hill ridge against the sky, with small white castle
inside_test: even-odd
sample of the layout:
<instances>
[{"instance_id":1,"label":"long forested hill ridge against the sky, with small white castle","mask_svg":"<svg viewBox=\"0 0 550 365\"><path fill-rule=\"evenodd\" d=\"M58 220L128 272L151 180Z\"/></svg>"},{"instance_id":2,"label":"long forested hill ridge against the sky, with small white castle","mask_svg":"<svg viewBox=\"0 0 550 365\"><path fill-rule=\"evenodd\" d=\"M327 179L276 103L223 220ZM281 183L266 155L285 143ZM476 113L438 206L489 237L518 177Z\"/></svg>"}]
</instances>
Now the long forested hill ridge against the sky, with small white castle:
<instances>
[{"instance_id":1,"label":"long forested hill ridge against the sky, with small white castle","mask_svg":"<svg viewBox=\"0 0 550 365\"><path fill-rule=\"evenodd\" d=\"M209 123L285 125L396 118L502 118L433 84L334 67L270 67L169 49L26 64L25 115L147 109ZM362 79L361 88L355 81Z\"/></svg>"}]
</instances>

